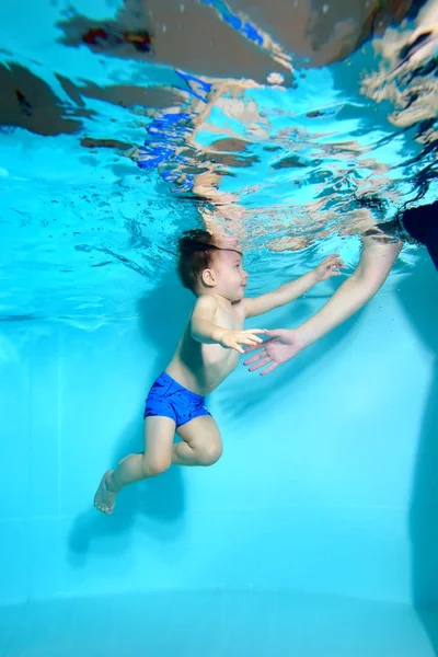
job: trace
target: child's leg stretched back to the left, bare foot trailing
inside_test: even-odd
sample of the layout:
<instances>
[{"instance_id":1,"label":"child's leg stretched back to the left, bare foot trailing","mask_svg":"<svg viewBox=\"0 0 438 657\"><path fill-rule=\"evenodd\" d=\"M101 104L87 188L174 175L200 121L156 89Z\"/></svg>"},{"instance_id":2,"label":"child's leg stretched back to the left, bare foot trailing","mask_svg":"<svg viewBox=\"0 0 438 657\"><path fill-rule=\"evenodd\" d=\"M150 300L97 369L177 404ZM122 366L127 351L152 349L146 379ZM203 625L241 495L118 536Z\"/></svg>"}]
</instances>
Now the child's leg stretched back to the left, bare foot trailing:
<instances>
[{"instance_id":1,"label":"child's leg stretched back to the left, bare foot trailing","mask_svg":"<svg viewBox=\"0 0 438 657\"><path fill-rule=\"evenodd\" d=\"M116 495L122 488L168 470L172 463L174 435L175 423L170 417L147 417L145 451L125 457L115 470L105 472L94 496L94 506L104 514L112 514Z\"/></svg>"}]
</instances>

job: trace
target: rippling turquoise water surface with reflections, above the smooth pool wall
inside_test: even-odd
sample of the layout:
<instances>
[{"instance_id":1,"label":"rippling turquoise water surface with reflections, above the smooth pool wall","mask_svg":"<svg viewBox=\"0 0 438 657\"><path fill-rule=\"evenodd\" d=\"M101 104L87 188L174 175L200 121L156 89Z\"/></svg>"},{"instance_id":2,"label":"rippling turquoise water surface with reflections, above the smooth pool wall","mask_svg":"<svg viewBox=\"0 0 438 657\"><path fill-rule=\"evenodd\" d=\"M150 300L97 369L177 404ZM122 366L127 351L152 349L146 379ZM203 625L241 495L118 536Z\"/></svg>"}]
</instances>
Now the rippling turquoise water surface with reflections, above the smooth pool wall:
<instances>
[{"instance_id":1,"label":"rippling turquoise water surface with reflections, above the smooth pool wall","mask_svg":"<svg viewBox=\"0 0 438 657\"><path fill-rule=\"evenodd\" d=\"M214 55L200 43L193 57L201 64L184 71L185 49L169 55L165 24L153 24L159 4L139 3L137 14L135 3L126 11L120 2L89 4L1 8L3 316L131 312L132 297L173 266L178 232L217 215L212 187L212 200L229 201L222 215L239 215L249 262L263 262L263 275L252 268L254 291L291 262L300 274L333 251L351 270L357 235L370 221L435 199L435 117L411 97L418 85L434 90L434 70L424 70L435 46L415 66L401 55L418 30L415 19L323 68L293 53L288 67L272 59L285 83L266 76L263 83L262 67L252 89L242 66L238 79L232 70L208 74L220 43ZM196 10L231 38L207 5L168 12L169 31ZM134 33L141 20L151 24L157 55L117 42L125 24ZM105 38L90 36L103 28ZM399 47L388 54L381 44L394 33ZM214 178L194 194L199 174ZM417 257L406 246L397 269Z\"/></svg>"}]
</instances>

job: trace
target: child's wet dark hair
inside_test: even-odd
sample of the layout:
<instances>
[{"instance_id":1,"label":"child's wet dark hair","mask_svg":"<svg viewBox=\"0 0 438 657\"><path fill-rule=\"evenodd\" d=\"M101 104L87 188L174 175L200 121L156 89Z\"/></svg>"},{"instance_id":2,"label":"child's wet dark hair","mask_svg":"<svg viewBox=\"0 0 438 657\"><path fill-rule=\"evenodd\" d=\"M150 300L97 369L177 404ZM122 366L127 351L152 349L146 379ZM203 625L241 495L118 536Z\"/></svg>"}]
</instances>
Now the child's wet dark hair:
<instances>
[{"instance_id":1,"label":"child's wet dark hair","mask_svg":"<svg viewBox=\"0 0 438 657\"><path fill-rule=\"evenodd\" d=\"M211 233L196 228L185 231L177 245L177 273L183 286L196 295L199 277L210 267L214 251L220 251Z\"/></svg>"}]
</instances>

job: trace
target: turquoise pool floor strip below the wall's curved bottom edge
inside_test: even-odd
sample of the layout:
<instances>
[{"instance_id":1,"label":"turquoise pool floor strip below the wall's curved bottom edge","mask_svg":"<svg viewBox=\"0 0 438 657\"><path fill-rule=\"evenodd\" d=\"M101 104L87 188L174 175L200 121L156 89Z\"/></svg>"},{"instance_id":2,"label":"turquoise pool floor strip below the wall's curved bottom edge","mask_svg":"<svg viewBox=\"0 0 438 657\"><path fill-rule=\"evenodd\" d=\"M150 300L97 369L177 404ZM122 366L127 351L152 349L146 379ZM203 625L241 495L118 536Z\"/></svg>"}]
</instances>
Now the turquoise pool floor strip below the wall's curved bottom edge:
<instances>
[{"instance_id":1,"label":"turquoise pool floor strip below the wall's curved bottom edge","mask_svg":"<svg viewBox=\"0 0 438 657\"><path fill-rule=\"evenodd\" d=\"M0 608L0 655L434 657L438 614L422 621L404 604L278 591L62 598Z\"/></svg>"}]
</instances>

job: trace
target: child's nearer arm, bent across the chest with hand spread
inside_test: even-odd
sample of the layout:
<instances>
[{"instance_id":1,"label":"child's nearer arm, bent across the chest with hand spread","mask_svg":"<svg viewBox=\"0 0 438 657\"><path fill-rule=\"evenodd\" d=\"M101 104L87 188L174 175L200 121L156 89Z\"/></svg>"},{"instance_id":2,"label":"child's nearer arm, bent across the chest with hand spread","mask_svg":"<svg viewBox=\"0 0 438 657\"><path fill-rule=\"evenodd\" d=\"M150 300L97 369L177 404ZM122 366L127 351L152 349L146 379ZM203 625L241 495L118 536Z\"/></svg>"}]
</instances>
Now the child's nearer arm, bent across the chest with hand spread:
<instances>
[{"instance_id":1,"label":"child's nearer arm, bent across the chest with hand spread","mask_svg":"<svg viewBox=\"0 0 438 657\"><path fill-rule=\"evenodd\" d=\"M215 297L204 295L198 297L191 320L191 335L196 342L205 345L218 344L222 347L235 349L244 354L241 345L256 346L263 341L257 337L257 333L265 333L262 328L251 328L249 331L231 331L224 326L218 326L214 323L218 302Z\"/></svg>"}]
</instances>

